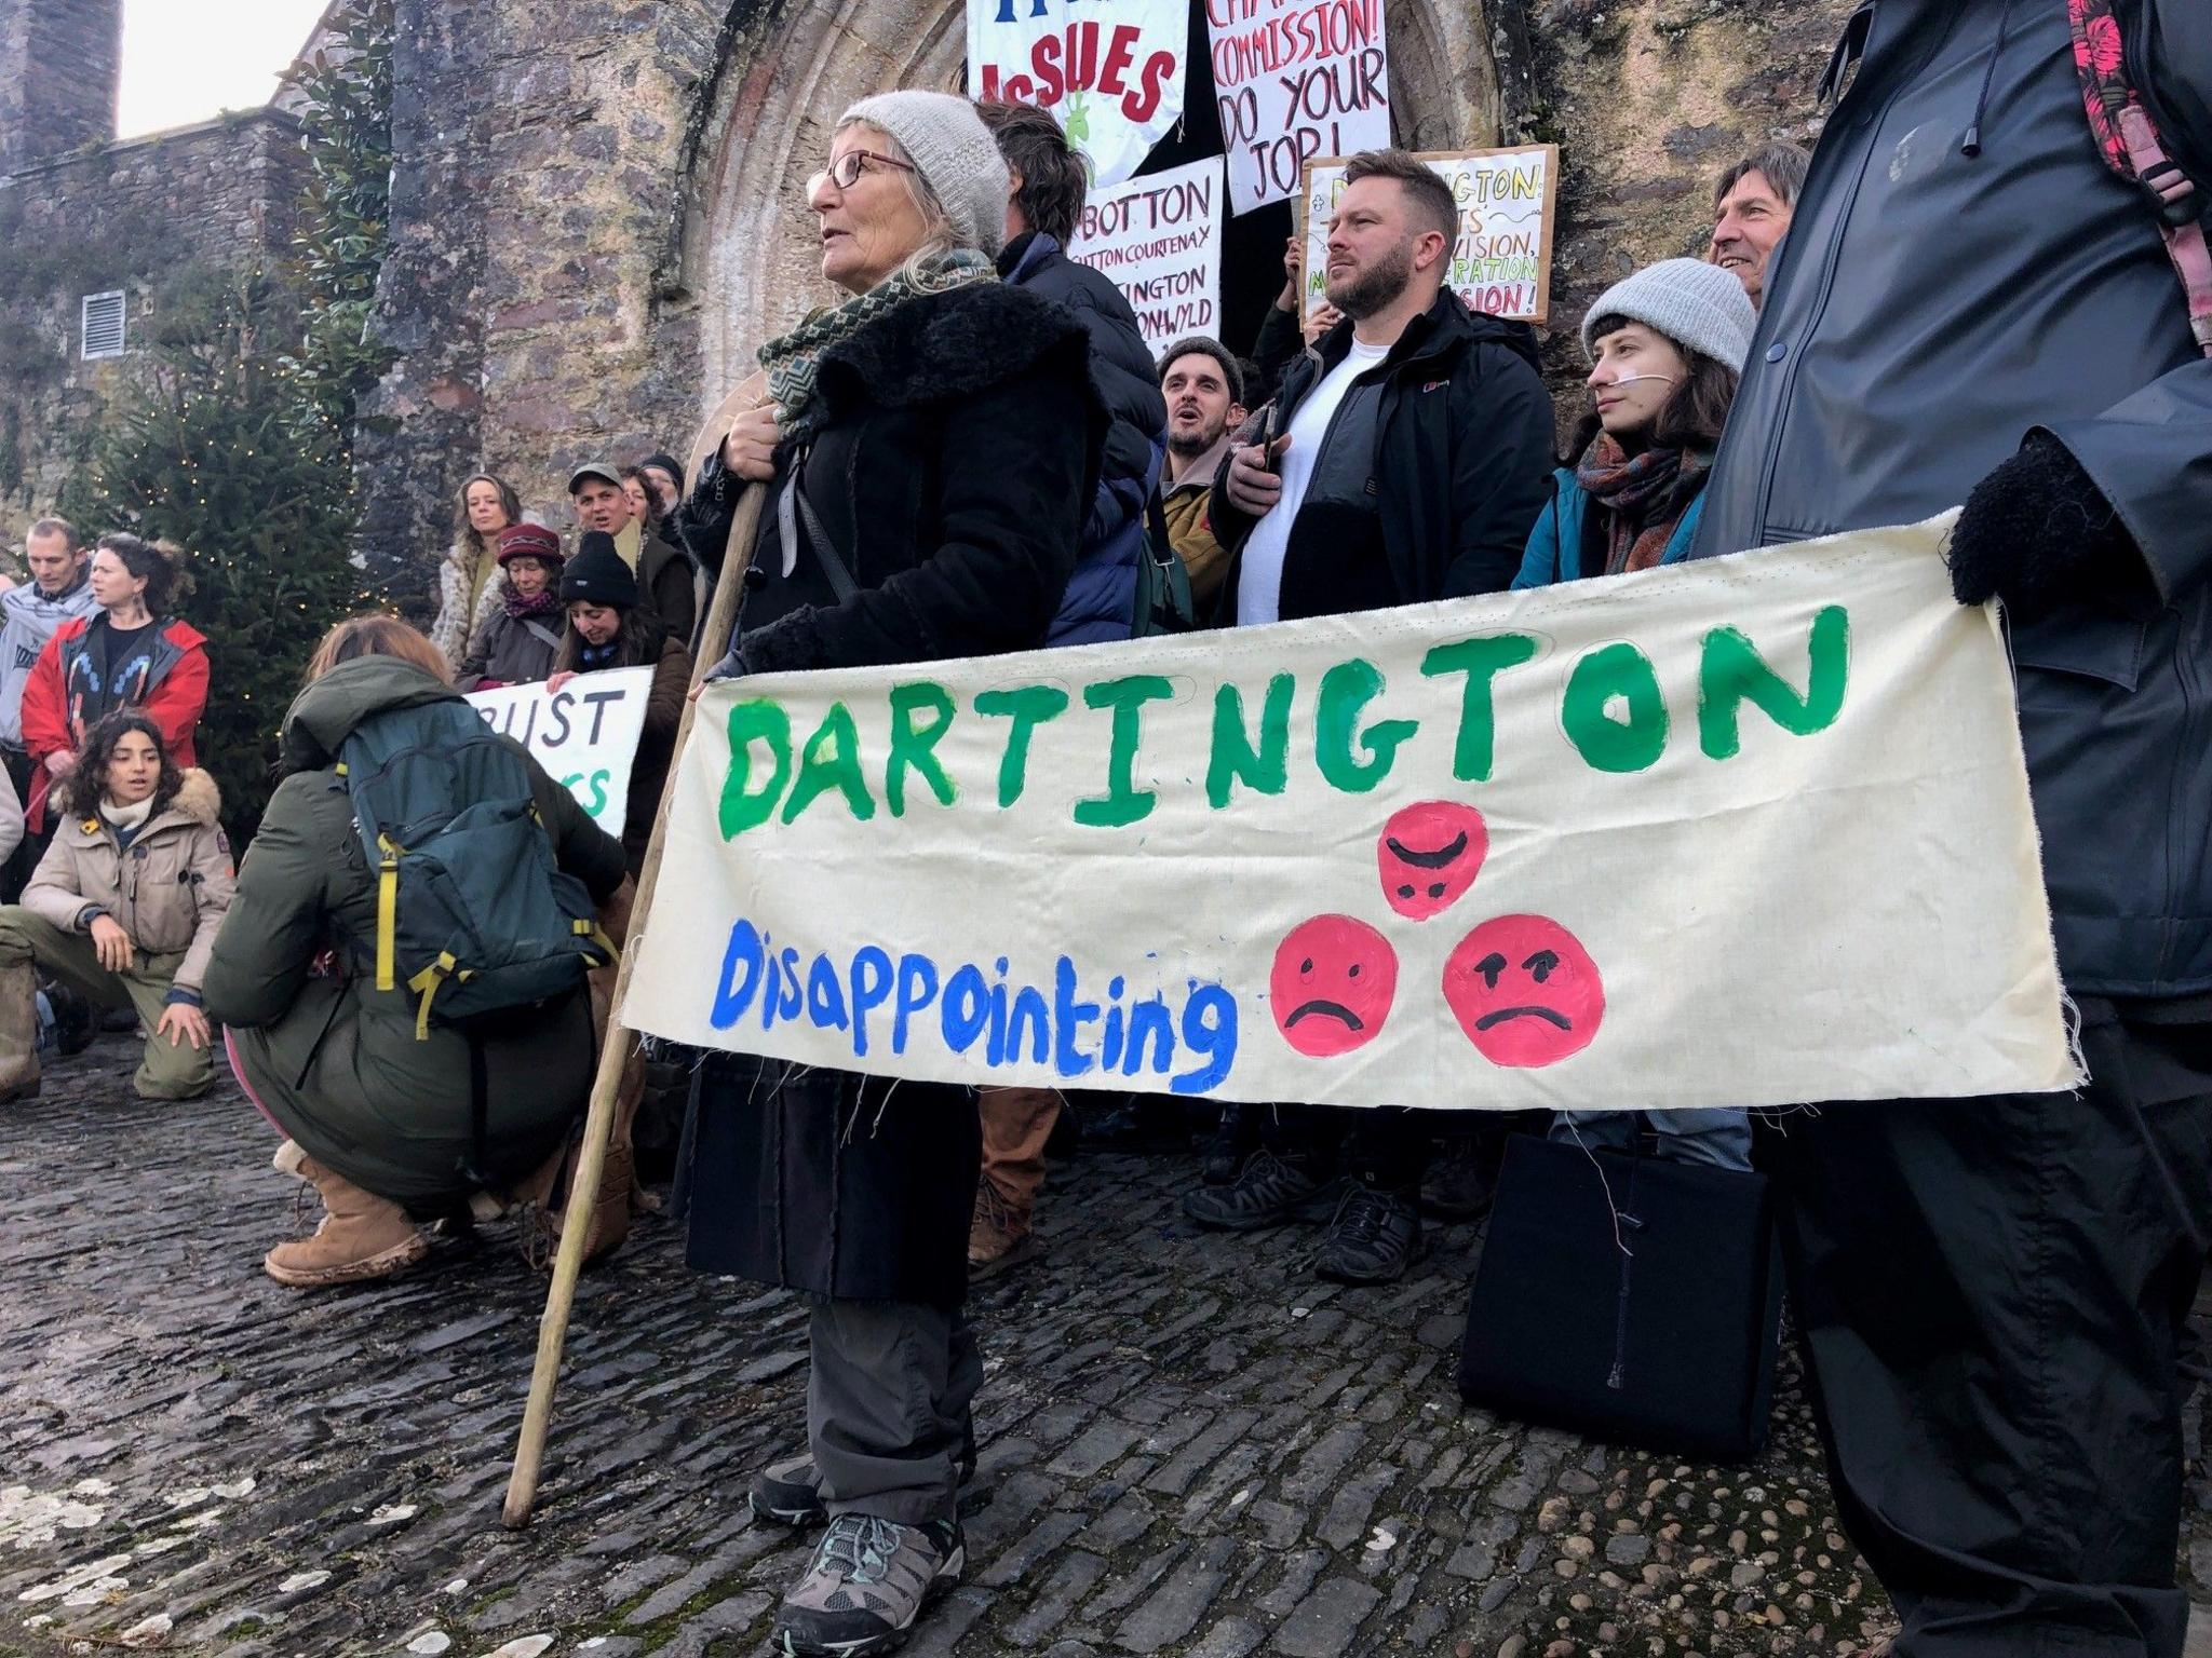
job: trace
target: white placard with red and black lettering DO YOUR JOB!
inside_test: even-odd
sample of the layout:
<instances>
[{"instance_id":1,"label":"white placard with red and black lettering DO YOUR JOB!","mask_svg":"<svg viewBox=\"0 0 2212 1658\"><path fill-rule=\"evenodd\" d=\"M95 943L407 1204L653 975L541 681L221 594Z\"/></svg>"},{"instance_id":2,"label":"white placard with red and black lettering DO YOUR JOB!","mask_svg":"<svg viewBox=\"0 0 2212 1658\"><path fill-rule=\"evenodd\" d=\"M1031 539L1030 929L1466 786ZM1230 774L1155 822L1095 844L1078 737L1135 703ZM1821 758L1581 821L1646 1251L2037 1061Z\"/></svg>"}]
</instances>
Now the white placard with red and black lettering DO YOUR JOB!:
<instances>
[{"instance_id":1,"label":"white placard with red and black lettering DO YOUR JOB!","mask_svg":"<svg viewBox=\"0 0 2212 1658\"><path fill-rule=\"evenodd\" d=\"M1389 148L1383 0L1206 0L1230 212L1298 195L1316 155Z\"/></svg>"}]
</instances>

